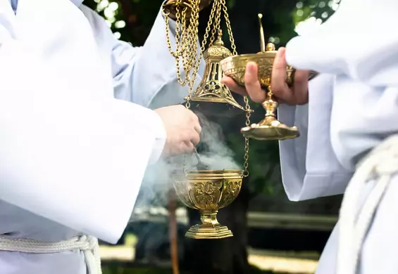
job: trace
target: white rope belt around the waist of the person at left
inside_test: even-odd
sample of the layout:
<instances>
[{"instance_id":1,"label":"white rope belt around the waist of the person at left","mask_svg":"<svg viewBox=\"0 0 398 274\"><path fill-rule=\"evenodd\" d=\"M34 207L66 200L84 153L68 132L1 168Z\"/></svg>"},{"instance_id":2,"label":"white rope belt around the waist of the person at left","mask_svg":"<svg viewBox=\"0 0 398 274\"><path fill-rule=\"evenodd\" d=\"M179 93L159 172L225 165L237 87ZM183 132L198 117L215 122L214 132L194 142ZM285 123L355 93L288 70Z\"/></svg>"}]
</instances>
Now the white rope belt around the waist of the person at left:
<instances>
[{"instance_id":1,"label":"white rope belt around the waist of the person at left","mask_svg":"<svg viewBox=\"0 0 398 274\"><path fill-rule=\"evenodd\" d=\"M58 253L80 250L85 255L88 274L101 274L98 240L82 235L61 242L39 242L26 239L9 239L0 235L0 250L36 254Z\"/></svg>"}]
</instances>

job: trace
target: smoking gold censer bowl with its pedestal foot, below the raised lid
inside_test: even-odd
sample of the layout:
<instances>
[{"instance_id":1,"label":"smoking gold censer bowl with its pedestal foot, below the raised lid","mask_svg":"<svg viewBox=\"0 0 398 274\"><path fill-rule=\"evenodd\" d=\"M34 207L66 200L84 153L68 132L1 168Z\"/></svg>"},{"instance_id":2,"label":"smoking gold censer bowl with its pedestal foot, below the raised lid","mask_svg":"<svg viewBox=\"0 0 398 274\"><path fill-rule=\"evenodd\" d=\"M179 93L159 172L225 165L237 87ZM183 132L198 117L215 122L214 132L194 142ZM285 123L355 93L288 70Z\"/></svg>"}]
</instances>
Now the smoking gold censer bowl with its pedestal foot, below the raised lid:
<instances>
[{"instance_id":1,"label":"smoking gold censer bowl with its pedestal foot, below the raised lid","mask_svg":"<svg viewBox=\"0 0 398 274\"><path fill-rule=\"evenodd\" d=\"M187 171L173 176L174 188L183 204L198 209L201 224L189 228L186 237L220 239L232 232L217 221L218 209L227 207L240 193L242 170Z\"/></svg>"}]
</instances>

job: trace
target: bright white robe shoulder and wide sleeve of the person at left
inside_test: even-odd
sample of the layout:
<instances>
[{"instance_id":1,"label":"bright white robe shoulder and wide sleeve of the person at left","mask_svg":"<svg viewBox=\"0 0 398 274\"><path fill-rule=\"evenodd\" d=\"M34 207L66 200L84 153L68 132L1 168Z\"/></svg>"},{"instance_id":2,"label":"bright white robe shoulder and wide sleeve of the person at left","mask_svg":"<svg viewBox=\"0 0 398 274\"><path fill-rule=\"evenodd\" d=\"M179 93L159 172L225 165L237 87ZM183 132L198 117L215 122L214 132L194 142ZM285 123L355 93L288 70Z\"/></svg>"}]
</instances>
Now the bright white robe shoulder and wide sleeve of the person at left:
<instances>
[{"instance_id":1,"label":"bright white robe shoulder and wide sleeve of the person at left","mask_svg":"<svg viewBox=\"0 0 398 274\"><path fill-rule=\"evenodd\" d=\"M0 199L117 242L158 117L107 95L111 77L70 1L21 1L15 16L1 0L0 44Z\"/></svg>"}]
</instances>

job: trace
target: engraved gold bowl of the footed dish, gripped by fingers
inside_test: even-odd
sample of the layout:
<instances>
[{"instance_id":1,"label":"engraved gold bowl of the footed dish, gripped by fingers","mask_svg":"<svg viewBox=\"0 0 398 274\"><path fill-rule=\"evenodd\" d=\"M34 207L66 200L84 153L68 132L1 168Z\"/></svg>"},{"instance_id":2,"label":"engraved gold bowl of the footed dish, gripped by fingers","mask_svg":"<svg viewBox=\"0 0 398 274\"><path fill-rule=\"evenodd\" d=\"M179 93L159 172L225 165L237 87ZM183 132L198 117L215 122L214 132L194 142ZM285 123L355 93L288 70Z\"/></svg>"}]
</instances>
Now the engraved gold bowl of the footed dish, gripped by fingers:
<instances>
[{"instance_id":1,"label":"engraved gold bowl of the footed dish, gripped by fingers","mask_svg":"<svg viewBox=\"0 0 398 274\"><path fill-rule=\"evenodd\" d=\"M261 87L266 89L270 85L270 79L273 69L273 60L275 60L277 51L266 51L256 54L242 54L240 56L230 56L220 61L221 70L228 77L234 79L237 84L244 86L244 73L249 62L254 62L259 66L259 81ZM294 83L295 69L287 65L286 84L292 86ZM317 72L310 72L309 80L316 77Z\"/></svg>"}]
</instances>

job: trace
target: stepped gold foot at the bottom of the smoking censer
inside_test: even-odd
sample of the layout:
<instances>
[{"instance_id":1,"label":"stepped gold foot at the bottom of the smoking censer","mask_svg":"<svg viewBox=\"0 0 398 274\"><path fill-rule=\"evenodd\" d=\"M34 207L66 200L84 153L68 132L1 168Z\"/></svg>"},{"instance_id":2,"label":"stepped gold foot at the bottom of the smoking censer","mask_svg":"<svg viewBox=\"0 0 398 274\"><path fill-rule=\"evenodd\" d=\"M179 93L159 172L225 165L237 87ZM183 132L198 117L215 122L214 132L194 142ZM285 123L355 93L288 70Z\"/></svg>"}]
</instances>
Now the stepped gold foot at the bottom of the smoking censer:
<instances>
[{"instance_id":1,"label":"stepped gold foot at the bottom of the smoking censer","mask_svg":"<svg viewBox=\"0 0 398 274\"><path fill-rule=\"evenodd\" d=\"M192 239L223 239L233 237L233 234L226 226L221 226L220 224L213 227L196 225L189 228L185 237Z\"/></svg>"}]
</instances>

